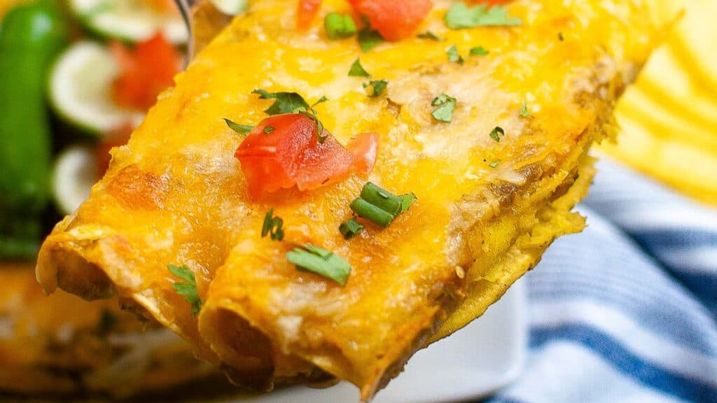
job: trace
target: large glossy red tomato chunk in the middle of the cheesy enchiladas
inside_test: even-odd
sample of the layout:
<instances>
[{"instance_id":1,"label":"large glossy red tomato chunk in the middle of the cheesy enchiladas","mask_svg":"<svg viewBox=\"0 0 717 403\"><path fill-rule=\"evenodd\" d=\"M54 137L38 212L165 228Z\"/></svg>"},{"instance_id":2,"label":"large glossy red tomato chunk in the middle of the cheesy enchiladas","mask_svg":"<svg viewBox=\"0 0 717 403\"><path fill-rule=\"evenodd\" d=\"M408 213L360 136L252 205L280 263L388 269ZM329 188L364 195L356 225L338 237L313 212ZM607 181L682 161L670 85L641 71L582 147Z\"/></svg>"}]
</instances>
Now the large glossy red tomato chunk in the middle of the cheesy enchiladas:
<instances>
[{"instance_id":1,"label":"large glossy red tomato chunk in the middle of the cheesy enchiladas","mask_svg":"<svg viewBox=\"0 0 717 403\"><path fill-rule=\"evenodd\" d=\"M259 199L264 192L293 186L316 189L345 179L351 171L368 174L373 168L379 140L375 134L358 136L349 149L326 129L323 136L326 140L319 143L315 121L300 113L262 120L235 154L250 197Z\"/></svg>"}]
</instances>

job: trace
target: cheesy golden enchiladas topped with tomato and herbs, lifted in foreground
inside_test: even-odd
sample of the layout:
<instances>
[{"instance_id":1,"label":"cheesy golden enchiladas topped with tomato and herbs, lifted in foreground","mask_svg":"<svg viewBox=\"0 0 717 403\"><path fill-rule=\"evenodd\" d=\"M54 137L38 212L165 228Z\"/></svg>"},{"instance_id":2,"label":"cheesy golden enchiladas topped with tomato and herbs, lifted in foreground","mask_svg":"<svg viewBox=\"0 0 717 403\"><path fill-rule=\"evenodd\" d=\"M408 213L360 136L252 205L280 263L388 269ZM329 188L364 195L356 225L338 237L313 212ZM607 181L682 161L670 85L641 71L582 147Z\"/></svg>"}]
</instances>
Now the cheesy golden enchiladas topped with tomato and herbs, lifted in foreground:
<instances>
[{"instance_id":1,"label":"cheesy golden enchiladas topped with tomato and herbs, lifted in foreground","mask_svg":"<svg viewBox=\"0 0 717 403\"><path fill-rule=\"evenodd\" d=\"M422 35L362 52L370 28L327 33L345 1L305 32L293 5L256 1L201 51L37 273L120 298L239 384L334 376L369 399L583 227L587 150L656 26L640 0L435 1ZM367 182L366 209L417 199L369 214Z\"/></svg>"}]
</instances>

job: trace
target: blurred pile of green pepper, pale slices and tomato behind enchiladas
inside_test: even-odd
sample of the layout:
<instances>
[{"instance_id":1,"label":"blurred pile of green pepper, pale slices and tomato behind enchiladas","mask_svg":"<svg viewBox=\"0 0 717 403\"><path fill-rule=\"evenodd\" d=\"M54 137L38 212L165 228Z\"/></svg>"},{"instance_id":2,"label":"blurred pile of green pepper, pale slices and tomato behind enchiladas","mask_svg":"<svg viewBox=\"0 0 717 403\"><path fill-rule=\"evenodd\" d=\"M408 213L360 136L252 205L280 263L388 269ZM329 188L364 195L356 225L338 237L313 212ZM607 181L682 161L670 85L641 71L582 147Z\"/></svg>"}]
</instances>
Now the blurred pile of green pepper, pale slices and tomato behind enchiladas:
<instances>
[{"instance_id":1,"label":"blurred pile of green pepper, pale slices and tomato behind enchiladas","mask_svg":"<svg viewBox=\"0 0 717 403\"><path fill-rule=\"evenodd\" d=\"M34 259L90 194L174 85L188 37L172 0L0 1L0 260Z\"/></svg>"}]
</instances>

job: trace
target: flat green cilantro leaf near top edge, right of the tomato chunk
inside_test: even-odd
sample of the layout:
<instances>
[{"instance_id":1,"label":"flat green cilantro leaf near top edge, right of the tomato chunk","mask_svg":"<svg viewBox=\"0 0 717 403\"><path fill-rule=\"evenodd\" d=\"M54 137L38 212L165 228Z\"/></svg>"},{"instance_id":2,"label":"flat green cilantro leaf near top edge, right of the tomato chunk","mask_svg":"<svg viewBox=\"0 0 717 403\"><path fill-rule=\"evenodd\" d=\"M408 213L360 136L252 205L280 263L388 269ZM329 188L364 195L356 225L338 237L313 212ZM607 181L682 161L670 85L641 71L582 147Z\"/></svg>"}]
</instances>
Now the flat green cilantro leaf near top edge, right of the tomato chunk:
<instances>
[{"instance_id":1,"label":"flat green cilantro leaf near top edge, right of the tomato chunk","mask_svg":"<svg viewBox=\"0 0 717 403\"><path fill-rule=\"evenodd\" d=\"M450 29L474 27L513 27L522 24L521 19L508 16L508 9L503 6L478 4L473 7L462 2L454 3L445 16L446 25Z\"/></svg>"}]
</instances>

